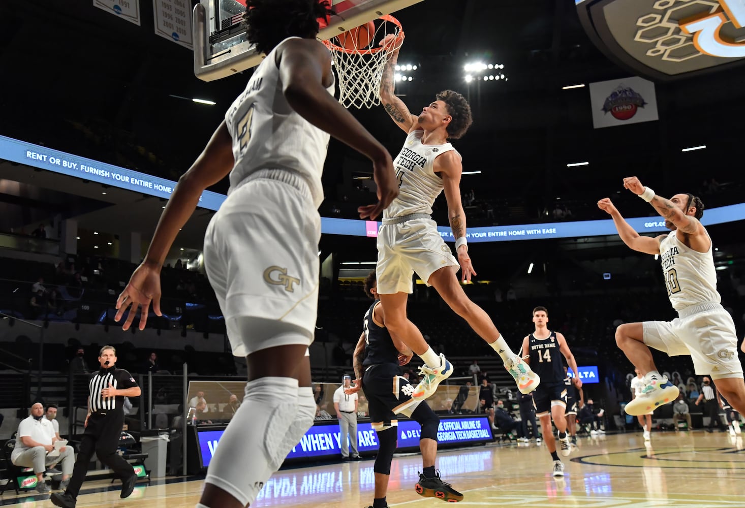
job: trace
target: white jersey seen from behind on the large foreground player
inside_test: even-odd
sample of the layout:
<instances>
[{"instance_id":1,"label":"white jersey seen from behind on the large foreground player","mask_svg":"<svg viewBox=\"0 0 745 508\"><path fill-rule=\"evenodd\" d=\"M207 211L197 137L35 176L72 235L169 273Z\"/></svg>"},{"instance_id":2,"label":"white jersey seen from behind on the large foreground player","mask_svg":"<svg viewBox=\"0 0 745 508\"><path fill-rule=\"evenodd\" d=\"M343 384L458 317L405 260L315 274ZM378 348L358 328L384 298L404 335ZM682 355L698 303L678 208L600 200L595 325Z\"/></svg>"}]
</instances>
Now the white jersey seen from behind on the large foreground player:
<instances>
[{"instance_id":1,"label":"white jersey seen from behind on the large foreground player","mask_svg":"<svg viewBox=\"0 0 745 508\"><path fill-rule=\"evenodd\" d=\"M285 169L299 174L308 183L315 205L320 206L321 173L329 133L298 115L282 93L275 55L288 39L276 45L261 61L244 92L225 114L235 160L230 189L259 169ZM333 95L334 85L327 90Z\"/></svg>"}]
</instances>

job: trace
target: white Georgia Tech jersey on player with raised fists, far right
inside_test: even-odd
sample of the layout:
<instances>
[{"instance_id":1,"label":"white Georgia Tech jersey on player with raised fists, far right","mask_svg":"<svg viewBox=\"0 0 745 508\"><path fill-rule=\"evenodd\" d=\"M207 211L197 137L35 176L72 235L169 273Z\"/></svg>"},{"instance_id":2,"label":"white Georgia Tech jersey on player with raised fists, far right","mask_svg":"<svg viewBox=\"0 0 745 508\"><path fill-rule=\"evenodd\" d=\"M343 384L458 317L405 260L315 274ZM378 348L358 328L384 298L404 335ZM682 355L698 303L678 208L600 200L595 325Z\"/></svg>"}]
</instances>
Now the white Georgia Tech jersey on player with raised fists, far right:
<instances>
[{"instance_id":1,"label":"white Georgia Tech jersey on player with raised fists, far right","mask_svg":"<svg viewBox=\"0 0 745 508\"><path fill-rule=\"evenodd\" d=\"M662 273L668 297L676 311L700 303L721 302L712 250L713 244L706 253L686 247L674 231L660 243Z\"/></svg>"}]
</instances>

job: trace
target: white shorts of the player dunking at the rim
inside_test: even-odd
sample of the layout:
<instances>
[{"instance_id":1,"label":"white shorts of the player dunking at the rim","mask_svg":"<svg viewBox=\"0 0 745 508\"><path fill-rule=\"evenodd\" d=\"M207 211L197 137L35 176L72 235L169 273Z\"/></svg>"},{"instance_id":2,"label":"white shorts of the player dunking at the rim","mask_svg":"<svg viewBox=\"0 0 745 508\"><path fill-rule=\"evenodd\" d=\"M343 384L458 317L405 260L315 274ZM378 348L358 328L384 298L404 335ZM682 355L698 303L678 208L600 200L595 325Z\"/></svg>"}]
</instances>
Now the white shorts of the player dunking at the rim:
<instances>
[{"instance_id":1,"label":"white shorts of the player dunking at the rim","mask_svg":"<svg viewBox=\"0 0 745 508\"><path fill-rule=\"evenodd\" d=\"M450 247L430 218L383 223L378 231L378 293L412 293L416 272L428 286L432 273L443 267L460 267Z\"/></svg>"}]
</instances>

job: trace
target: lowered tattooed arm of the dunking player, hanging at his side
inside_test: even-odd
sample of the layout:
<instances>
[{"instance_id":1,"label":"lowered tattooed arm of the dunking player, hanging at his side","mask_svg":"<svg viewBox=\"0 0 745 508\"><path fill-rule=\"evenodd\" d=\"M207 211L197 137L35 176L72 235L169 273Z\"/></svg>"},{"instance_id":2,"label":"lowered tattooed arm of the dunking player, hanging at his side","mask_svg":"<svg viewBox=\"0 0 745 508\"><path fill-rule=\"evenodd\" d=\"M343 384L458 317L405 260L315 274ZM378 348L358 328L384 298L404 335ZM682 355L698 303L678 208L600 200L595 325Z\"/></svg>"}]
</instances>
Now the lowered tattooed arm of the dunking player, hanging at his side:
<instances>
[{"instance_id":1,"label":"lowered tattooed arm of the dunking player, hanging at his side","mask_svg":"<svg viewBox=\"0 0 745 508\"><path fill-rule=\"evenodd\" d=\"M440 173L443 178L445 199L448 202L448 220L453 231L453 238L466 236L466 212L463 211L463 203L460 200L460 174L463 173L463 164L460 156L455 151L449 151L434 159L435 173ZM471 282L471 276L476 275L468 255L468 246L458 247L458 262L460 263L460 278Z\"/></svg>"}]
</instances>

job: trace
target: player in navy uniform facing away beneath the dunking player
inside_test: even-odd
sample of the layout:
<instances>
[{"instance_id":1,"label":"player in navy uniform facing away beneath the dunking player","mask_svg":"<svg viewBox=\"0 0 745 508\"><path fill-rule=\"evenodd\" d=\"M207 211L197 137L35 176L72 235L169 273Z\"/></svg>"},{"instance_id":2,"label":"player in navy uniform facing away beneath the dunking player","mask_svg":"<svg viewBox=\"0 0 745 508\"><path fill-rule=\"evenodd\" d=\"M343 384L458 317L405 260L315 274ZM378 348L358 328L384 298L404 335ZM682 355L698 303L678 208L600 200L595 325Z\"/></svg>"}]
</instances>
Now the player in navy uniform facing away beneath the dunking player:
<instances>
[{"instance_id":1,"label":"player in navy uniform facing away beneath the dunking player","mask_svg":"<svg viewBox=\"0 0 745 508\"><path fill-rule=\"evenodd\" d=\"M434 469L437 457L437 429L440 417L425 401L414 400L412 384L401 375L401 365L409 363L413 352L401 340L391 337L385 328L383 305L378 299L378 284L375 271L365 279L365 293L373 300L364 319L364 331L355 348L355 383L346 393L356 393L360 388L370 403L370 420L378 434L378 457L375 458L375 497L372 507L386 508L385 496L390 478L390 463L396 451L396 426L398 415L408 416L422 426L419 449L422 451L422 467L419 482L414 489L425 498L438 498L451 503L463 501L463 494L449 483L440 480ZM393 385L393 390L391 386Z\"/></svg>"}]
</instances>

